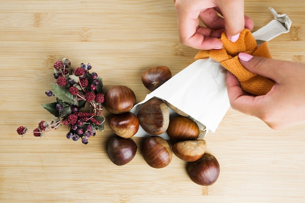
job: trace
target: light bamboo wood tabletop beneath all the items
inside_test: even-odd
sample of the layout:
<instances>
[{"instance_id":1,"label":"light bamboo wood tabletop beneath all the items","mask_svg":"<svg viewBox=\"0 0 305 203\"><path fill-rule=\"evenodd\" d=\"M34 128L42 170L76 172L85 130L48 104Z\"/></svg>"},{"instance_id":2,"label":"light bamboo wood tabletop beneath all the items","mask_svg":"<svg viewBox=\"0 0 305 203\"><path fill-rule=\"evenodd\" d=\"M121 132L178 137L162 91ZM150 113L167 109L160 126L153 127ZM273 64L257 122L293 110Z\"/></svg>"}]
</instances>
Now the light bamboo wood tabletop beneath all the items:
<instances>
[{"instance_id":1,"label":"light bamboo wood tabletop beneath all the items","mask_svg":"<svg viewBox=\"0 0 305 203\"><path fill-rule=\"evenodd\" d=\"M273 18L268 6L292 20L290 33L269 42L271 54L304 62L304 0L246 0L254 31ZM132 162L115 166L105 151L113 135L107 122L88 145L68 140L65 126L42 138L16 133L53 118L40 104L54 101L44 92L58 59L75 68L91 63L105 90L126 85L139 102L149 93L143 71L165 65L176 74L197 51L179 43L172 0L1 0L0 202L305 202L305 125L272 130L230 109L206 137L221 166L209 187L191 182L176 157L154 169L139 149Z\"/></svg>"}]
</instances>

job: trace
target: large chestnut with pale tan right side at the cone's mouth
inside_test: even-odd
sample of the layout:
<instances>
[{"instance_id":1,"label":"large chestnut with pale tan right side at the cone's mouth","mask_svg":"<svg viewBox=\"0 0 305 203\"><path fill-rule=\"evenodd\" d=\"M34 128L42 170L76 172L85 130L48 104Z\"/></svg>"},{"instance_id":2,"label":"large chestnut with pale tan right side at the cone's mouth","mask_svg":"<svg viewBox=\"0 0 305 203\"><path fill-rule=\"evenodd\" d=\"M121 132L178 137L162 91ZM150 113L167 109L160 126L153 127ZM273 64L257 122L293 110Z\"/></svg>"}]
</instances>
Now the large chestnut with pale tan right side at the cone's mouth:
<instances>
[{"instance_id":1,"label":"large chestnut with pale tan right side at the cone's mouth","mask_svg":"<svg viewBox=\"0 0 305 203\"><path fill-rule=\"evenodd\" d=\"M170 110L163 100L152 98L139 107L137 117L146 132L159 135L169 127Z\"/></svg>"}]
</instances>

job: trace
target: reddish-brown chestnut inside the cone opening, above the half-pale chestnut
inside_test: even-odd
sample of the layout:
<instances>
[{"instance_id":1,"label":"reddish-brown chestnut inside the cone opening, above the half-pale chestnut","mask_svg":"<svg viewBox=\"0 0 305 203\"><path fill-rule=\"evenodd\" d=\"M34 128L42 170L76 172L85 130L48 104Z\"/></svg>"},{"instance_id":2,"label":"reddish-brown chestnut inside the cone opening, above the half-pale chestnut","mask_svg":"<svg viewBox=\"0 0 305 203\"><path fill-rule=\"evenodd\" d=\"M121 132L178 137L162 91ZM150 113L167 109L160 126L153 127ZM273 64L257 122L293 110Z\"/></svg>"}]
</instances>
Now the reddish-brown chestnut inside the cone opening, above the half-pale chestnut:
<instances>
[{"instance_id":1,"label":"reddish-brown chestnut inside the cone opening, above the half-pale chestnut","mask_svg":"<svg viewBox=\"0 0 305 203\"><path fill-rule=\"evenodd\" d=\"M167 133L176 142L196 140L199 135L199 127L191 118L176 116L170 120Z\"/></svg>"}]
</instances>

